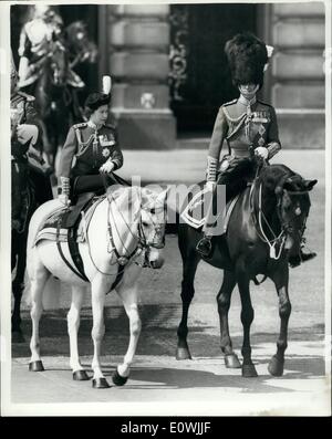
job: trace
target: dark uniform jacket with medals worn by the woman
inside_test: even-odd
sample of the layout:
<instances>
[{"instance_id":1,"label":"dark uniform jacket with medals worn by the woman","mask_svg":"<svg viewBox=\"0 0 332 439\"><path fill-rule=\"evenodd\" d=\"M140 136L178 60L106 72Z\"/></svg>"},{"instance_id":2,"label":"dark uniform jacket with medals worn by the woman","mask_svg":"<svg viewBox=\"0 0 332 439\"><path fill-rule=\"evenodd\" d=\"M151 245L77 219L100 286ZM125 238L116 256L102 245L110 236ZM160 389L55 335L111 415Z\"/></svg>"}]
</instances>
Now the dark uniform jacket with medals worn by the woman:
<instances>
[{"instance_id":1,"label":"dark uniform jacket with medals worn by the woman","mask_svg":"<svg viewBox=\"0 0 332 439\"><path fill-rule=\"evenodd\" d=\"M97 129L91 122L76 124L70 128L63 146L59 176L97 175L107 160L114 164L114 170L123 165L115 127L103 125Z\"/></svg>"}]
</instances>

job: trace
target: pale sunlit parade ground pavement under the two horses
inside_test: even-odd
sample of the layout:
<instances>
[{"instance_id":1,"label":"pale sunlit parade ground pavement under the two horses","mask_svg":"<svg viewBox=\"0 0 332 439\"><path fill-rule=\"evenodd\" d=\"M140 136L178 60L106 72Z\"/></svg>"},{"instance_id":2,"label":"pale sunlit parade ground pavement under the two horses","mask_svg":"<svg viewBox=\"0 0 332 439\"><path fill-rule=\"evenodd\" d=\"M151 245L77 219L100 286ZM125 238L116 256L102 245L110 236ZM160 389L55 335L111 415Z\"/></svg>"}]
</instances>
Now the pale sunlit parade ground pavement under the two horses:
<instances>
[{"instance_id":1,"label":"pale sunlit parade ground pavement under the two horses","mask_svg":"<svg viewBox=\"0 0 332 439\"><path fill-rule=\"evenodd\" d=\"M125 150L124 159L124 168L118 171L123 178L142 175L145 182L191 184L204 178L206 150ZM283 377L274 378L267 372L279 332L278 302L272 284L267 281L261 286L252 286L256 311L251 333L252 358L259 377L242 378L239 369L227 369L224 364L215 302L222 274L206 263L199 264L197 271L196 296L189 314L188 342L193 360L175 359L181 265L177 239L167 236L164 268L158 271L144 270L138 281L143 330L126 386L96 390L91 381L72 380L65 320L70 300L65 285L58 284L53 288L60 294L60 309L46 311L41 321L45 372L28 372L28 342L12 345L11 404L7 405L7 412L28 416L329 416L331 384L326 357L330 346L325 337L324 151L283 150L278 155L278 163L284 163L305 178L319 179L311 196L308 221L308 241L319 255L307 265L291 271L292 315ZM31 322L24 303L22 309L22 327L28 339ZM107 296L105 313L103 370L112 384L111 375L126 351L128 321L115 295ZM82 363L87 370L93 354L91 326L86 294L79 344ZM240 356L242 330L237 291L230 310L230 332L235 351Z\"/></svg>"}]
</instances>

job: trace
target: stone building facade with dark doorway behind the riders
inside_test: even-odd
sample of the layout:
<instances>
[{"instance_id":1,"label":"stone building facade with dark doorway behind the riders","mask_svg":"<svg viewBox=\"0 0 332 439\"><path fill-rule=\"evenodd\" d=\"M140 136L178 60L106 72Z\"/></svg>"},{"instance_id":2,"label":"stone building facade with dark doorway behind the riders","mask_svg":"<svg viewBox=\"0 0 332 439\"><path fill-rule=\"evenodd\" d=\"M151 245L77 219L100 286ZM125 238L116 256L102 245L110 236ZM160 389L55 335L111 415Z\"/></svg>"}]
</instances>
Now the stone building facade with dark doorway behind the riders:
<instances>
[{"instance_id":1,"label":"stone building facade with dark doorway behind the riders","mask_svg":"<svg viewBox=\"0 0 332 439\"><path fill-rule=\"evenodd\" d=\"M93 88L112 75L124 148L181 147L183 138L207 146L218 107L238 95L224 45L245 30L274 46L260 93L277 108L283 147L324 147L323 2L72 4L60 12L95 33L98 65L87 82Z\"/></svg>"}]
</instances>

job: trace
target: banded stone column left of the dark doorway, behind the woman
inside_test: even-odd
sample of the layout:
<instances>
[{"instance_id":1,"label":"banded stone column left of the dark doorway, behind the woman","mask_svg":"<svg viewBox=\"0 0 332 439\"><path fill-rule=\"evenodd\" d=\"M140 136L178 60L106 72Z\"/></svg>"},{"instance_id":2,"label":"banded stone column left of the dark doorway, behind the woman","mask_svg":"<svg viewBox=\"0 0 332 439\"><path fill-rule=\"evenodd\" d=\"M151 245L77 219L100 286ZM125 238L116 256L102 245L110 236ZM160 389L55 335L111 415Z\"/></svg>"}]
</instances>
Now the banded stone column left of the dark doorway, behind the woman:
<instances>
[{"instance_id":1,"label":"banded stone column left of the dark doorway, behind the woman","mask_svg":"<svg viewBox=\"0 0 332 439\"><path fill-rule=\"evenodd\" d=\"M106 66L113 77L112 111L124 148L173 148L169 109L167 4L107 6Z\"/></svg>"}]
</instances>

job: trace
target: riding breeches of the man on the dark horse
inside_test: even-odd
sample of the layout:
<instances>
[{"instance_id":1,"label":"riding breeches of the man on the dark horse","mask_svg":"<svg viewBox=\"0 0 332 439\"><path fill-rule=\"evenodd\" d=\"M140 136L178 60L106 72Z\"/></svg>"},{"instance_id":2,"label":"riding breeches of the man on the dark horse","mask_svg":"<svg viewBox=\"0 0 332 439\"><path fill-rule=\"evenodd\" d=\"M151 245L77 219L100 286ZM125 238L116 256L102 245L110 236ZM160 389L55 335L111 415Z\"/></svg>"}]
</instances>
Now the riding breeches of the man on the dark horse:
<instances>
[{"instance_id":1,"label":"riding breeches of the man on the dark horse","mask_svg":"<svg viewBox=\"0 0 332 439\"><path fill-rule=\"evenodd\" d=\"M221 234L220 228L217 227L218 218L222 212L218 211L218 186L226 186L226 202L230 201L247 187L247 181L252 174L252 163L249 158L225 157L228 167L224 169L217 179L214 188L211 201L208 206L206 221L203 231L206 236ZM224 163L224 161L222 161ZM221 169L222 169L221 163Z\"/></svg>"}]
</instances>

